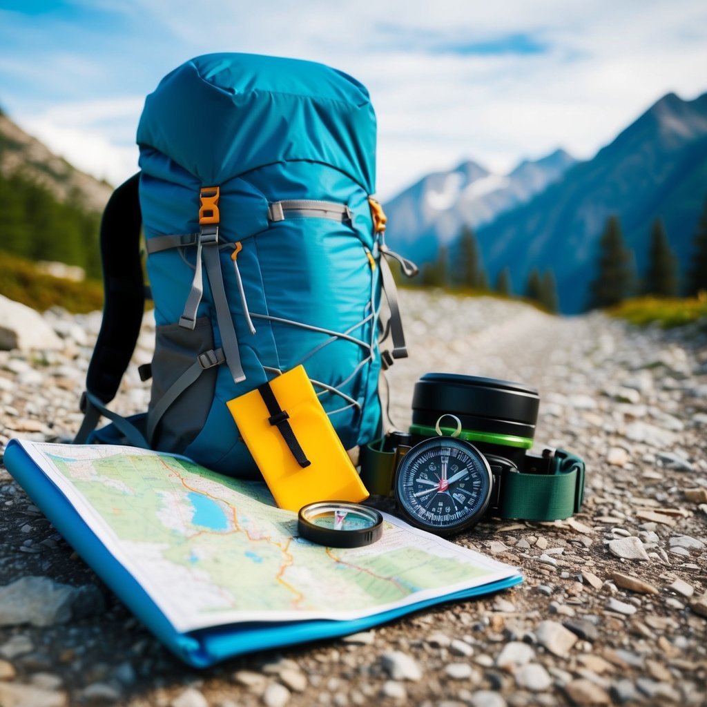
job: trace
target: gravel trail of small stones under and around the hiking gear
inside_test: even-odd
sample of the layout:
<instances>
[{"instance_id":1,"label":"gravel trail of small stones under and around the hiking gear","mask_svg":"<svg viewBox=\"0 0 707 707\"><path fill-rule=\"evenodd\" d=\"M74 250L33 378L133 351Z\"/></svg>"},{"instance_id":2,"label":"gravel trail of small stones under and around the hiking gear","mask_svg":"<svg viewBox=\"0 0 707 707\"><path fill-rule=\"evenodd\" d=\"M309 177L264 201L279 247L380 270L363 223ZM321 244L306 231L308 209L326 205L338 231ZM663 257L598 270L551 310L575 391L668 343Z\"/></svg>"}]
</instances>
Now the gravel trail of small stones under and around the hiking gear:
<instances>
[{"instance_id":1,"label":"gravel trail of small stones under and around the hiking gear","mask_svg":"<svg viewBox=\"0 0 707 707\"><path fill-rule=\"evenodd\" d=\"M388 375L398 426L423 373L518 380L540 392L537 444L587 462L571 520L489 518L455 538L518 566L522 585L199 672L153 639L0 469L0 705L706 704L705 329L634 329L421 291L403 291L402 308L411 357ZM0 351L1 445L68 437L81 421L100 315L44 318L63 349ZM150 320L136 363L151 357ZM146 407L134 370L123 387L116 409ZM23 577L42 625L8 615L3 585ZM52 610L56 583L77 589Z\"/></svg>"}]
</instances>

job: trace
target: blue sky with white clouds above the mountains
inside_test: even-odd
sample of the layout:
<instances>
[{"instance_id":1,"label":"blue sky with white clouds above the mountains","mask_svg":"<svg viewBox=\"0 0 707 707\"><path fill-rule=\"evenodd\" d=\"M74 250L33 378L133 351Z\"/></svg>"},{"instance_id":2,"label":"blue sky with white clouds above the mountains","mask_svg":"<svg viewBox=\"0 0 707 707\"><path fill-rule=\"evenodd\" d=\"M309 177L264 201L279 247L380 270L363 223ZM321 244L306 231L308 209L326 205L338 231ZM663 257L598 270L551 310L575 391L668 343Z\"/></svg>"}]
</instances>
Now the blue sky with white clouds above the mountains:
<instances>
[{"instance_id":1,"label":"blue sky with white clouds above the mountains","mask_svg":"<svg viewBox=\"0 0 707 707\"><path fill-rule=\"evenodd\" d=\"M145 95L199 54L334 66L368 88L378 196L472 159L591 158L662 95L707 91L704 0L0 0L0 107L114 185Z\"/></svg>"}]
</instances>

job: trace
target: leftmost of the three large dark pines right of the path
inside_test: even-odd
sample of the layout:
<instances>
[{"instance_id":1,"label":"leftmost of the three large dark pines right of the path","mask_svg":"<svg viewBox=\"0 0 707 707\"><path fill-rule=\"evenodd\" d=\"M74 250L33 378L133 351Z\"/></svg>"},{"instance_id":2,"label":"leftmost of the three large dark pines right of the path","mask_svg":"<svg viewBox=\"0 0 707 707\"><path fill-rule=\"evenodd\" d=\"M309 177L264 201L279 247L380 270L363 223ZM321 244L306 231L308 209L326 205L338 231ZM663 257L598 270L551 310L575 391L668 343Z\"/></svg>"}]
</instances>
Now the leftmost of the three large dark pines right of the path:
<instances>
[{"instance_id":1,"label":"leftmost of the three large dark pines right of the path","mask_svg":"<svg viewBox=\"0 0 707 707\"><path fill-rule=\"evenodd\" d=\"M626 299L633 286L633 255L621 235L618 216L609 216L599 242L597 276L590 283L590 306L612 307Z\"/></svg>"}]
</instances>

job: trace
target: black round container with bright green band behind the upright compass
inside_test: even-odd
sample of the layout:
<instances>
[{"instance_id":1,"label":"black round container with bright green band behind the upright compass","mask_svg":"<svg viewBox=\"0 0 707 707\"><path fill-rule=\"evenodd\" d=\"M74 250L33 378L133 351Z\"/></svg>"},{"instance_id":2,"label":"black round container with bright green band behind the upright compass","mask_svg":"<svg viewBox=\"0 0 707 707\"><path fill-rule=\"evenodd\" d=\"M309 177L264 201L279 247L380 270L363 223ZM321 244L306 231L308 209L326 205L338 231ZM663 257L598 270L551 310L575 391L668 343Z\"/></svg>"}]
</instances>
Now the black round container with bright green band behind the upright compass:
<instances>
[{"instance_id":1,"label":"black round container with bright green band behind the upright compass","mask_svg":"<svg viewBox=\"0 0 707 707\"><path fill-rule=\"evenodd\" d=\"M410 431L418 438L435 436L440 417L454 415L462 423L460 438L520 465L525 450L532 447L539 404L537 390L522 383L426 373L415 384ZM446 434L455 426L451 418L440 420Z\"/></svg>"}]
</instances>

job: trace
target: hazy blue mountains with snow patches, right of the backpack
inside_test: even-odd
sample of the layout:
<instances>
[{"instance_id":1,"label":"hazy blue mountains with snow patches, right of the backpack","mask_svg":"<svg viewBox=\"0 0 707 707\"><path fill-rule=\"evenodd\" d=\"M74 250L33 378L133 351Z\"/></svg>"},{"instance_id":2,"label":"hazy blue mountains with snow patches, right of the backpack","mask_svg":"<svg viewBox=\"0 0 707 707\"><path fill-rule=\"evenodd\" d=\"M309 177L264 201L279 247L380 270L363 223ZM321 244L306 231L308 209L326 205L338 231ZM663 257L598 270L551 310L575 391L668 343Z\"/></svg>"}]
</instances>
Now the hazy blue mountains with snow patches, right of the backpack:
<instances>
[{"instance_id":1,"label":"hazy blue mountains with snow patches, right of the backpack","mask_svg":"<svg viewBox=\"0 0 707 707\"><path fill-rule=\"evenodd\" d=\"M468 224L491 282L508 267L521 293L532 269L551 269L560 308L573 313L588 302L609 215L619 216L639 275L658 217L684 271L706 197L707 93L694 100L670 93L590 160L556 151L506 176L464 163L424 177L385 204L386 238L421 264Z\"/></svg>"}]
</instances>

